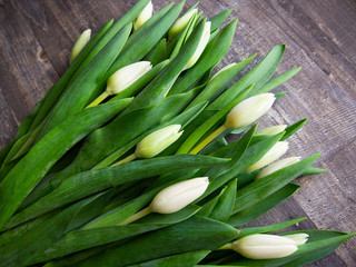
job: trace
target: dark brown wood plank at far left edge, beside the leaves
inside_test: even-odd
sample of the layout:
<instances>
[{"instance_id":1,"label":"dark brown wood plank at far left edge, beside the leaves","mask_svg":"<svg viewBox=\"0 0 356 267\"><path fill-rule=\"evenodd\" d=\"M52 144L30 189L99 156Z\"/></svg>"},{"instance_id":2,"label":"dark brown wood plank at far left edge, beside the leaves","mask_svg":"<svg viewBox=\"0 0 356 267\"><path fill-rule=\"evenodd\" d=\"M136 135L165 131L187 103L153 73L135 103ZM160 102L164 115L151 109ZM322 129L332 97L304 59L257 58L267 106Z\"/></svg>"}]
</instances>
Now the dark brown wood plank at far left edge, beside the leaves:
<instances>
[{"instance_id":1,"label":"dark brown wood plank at far left edge, beside the leaves","mask_svg":"<svg viewBox=\"0 0 356 267\"><path fill-rule=\"evenodd\" d=\"M19 122L34 108L58 75L31 29L10 2L2 7L0 55L2 148L14 137ZM11 130L9 121L16 122L11 123Z\"/></svg>"}]
</instances>

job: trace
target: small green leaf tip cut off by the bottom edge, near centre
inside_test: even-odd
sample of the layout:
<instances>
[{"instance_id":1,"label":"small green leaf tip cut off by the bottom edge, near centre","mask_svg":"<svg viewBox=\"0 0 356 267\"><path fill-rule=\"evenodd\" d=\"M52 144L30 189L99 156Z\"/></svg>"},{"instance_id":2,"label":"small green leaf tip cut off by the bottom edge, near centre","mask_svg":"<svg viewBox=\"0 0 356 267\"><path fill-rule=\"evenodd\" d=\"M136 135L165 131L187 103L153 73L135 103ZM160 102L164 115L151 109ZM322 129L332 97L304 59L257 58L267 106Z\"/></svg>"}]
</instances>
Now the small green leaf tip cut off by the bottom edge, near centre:
<instances>
[{"instance_id":1,"label":"small green leaf tip cut off by the bottom edge, near centre","mask_svg":"<svg viewBox=\"0 0 356 267\"><path fill-rule=\"evenodd\" d=\"M130 265L129 267L191 267L195 264L200 263L200 260L202 260L208 254L209 250L178 254L137 265Z\"/></svg>"}]
</instances>

